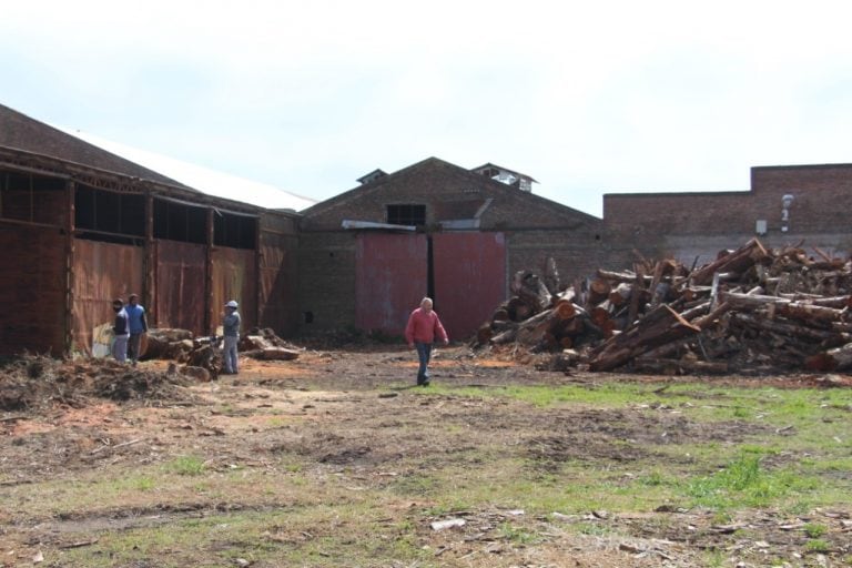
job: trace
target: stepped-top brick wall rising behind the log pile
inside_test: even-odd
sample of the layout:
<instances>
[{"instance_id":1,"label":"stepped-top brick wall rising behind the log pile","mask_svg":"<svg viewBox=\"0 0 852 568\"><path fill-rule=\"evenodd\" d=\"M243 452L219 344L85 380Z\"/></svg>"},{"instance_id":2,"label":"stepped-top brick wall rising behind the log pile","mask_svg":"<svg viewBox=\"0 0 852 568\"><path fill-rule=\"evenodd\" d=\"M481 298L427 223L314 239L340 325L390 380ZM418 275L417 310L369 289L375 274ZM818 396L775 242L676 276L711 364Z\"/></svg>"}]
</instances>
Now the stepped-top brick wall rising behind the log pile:
<instances>
[{"instance_id":1,"label":"stepped-top brick wall rising behind the log pile","mask_svg":"<svg viewBox=\"0 0 852 568\"><path fill-rule=\"evenodd\" d=\"M792 197L787 207L785 196ZM606 262L630 267L639 253L700 265L752 237L769 247L845 257L852 252L850 210L852 164L753 168L750 191L608 194Z\"/></svg>"}]
</instances>

